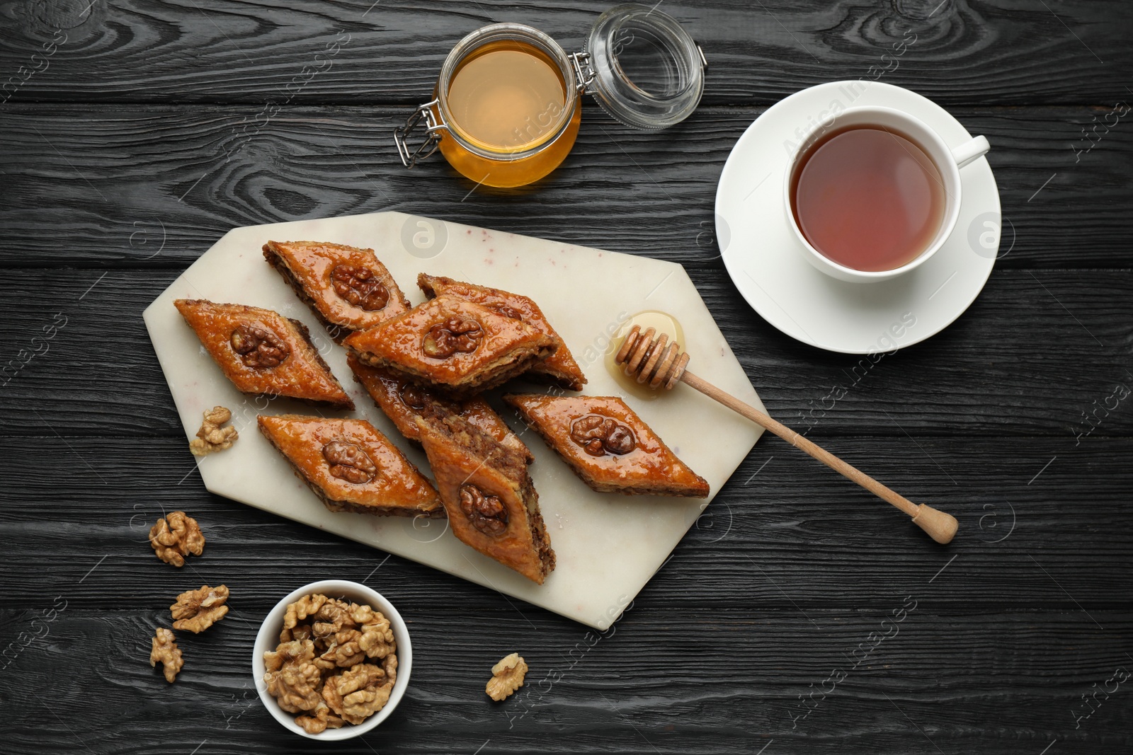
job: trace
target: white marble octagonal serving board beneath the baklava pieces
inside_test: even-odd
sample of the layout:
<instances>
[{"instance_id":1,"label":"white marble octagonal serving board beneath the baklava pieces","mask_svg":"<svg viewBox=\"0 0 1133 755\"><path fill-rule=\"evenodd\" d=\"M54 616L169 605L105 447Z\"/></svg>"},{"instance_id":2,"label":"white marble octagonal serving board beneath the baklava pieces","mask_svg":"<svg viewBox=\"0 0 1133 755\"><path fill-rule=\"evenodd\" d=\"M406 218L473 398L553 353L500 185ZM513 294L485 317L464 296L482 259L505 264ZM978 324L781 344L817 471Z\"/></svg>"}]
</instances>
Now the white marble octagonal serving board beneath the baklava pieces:
<instances>
[{"instance_id":1,"label":"white marble octagonal serving board beneath the baklava pieces","mask_svg":"<svg viewBox=\"0 0 1133 755\"><path fill-rule=\"evenodd\" d=\"M683 326L682 345L690 351L696 372L763 409L680 265L392 212L255 225L225 233L144 315L186 437L199 428L203 411L218 404L232 410L239 440L229 451L198 460L205 487L214 494L427 564L599 629L617 618L708 505L704 499L595 492L534 431L525 431L513 412L489 397L536 457L531 477L559 561L543 585L465 546L444 520L327 511L259 434L257 414L365 418L426 475L428 463L352 379L346 352L264 261L261 247L269 239L370 247L414 303L424 300L416 286L419 272L530 295L586 372L589 384L585 393L623 396L673 452L709 482L712 495L761 432L687 385L646 400L628 395L607 371L605 352L611 334L629 316L661 310ZM265 307L301 320L357 410L338 412L237 392L173 307L173 300L180 298ZM185 453L188 456L188 441ZM208 523L202 524L207 532ZM333 564L333 557L327 563Z\"/></svg>"}]
</instances>

